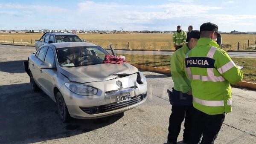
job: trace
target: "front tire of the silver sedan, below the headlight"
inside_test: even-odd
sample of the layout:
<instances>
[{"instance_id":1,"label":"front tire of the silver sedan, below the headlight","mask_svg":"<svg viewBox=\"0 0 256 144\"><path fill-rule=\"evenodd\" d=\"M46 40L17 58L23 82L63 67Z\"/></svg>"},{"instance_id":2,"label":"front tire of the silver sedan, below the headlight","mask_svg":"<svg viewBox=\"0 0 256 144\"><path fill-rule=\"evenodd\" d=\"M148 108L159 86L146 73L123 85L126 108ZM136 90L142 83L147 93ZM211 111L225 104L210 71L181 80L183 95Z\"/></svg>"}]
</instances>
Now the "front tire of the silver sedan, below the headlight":
<instances>
[{"instance_id":1,"label":"front tire of the silver sedan, below the headlight","mask_svg":"<svg viewBox=\"0 0 256 144\"><path fill-rule=\"evenodd\" d=\"M62 97L60 92L57 92L56 95L56 103L58 107L58 115L62 122L68 122L70 121L70 115L67 110L67 105L64 101L64 98Z\"/></svg>"}]
</instances>

